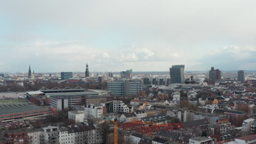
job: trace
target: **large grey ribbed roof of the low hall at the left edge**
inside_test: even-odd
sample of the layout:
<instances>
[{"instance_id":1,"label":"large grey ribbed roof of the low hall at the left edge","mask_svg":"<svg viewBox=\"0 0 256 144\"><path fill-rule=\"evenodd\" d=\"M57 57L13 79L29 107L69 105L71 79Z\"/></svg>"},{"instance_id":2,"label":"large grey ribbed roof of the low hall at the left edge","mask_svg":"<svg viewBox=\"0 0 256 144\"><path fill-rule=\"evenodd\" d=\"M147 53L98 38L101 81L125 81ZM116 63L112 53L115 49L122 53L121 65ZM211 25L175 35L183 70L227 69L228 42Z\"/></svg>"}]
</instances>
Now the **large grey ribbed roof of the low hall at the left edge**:
<instances>
[{"instance_id":1,"label":"large grey ribbed roof of the low hall at the left edge","mask_svg":"<svg viewBox=\"0 0 256 144\"><path fill-rule=\"evenodd\" d=\"M19 104L19 105L0 105L0 115L8 115L14 113L30 112L47 110L48 107L42 107L37 105Z\"/></svg>"}]
</instances>

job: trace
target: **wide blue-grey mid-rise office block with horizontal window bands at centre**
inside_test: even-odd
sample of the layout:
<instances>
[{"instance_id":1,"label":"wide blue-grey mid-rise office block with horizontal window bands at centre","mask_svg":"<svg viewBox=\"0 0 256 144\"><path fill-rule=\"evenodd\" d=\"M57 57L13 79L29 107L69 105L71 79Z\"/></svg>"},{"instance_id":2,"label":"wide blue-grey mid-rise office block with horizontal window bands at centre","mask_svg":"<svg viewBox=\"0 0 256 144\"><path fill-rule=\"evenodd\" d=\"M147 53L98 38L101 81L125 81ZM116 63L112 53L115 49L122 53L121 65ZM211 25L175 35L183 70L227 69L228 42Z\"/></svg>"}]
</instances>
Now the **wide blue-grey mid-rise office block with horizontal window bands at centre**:
<instances>
[{"instance_id":1,"label":"wide blue-grey mid-rise office block with horizontal window bands at centre","mask_svg":"<svg viewBox=\"0 0 256 144\"><path fill-rule=\"evenodd\" d=\"M108 91L117 96L139 95L143 91L142 82L108 82Z\"/></svg>"}]
</instances>

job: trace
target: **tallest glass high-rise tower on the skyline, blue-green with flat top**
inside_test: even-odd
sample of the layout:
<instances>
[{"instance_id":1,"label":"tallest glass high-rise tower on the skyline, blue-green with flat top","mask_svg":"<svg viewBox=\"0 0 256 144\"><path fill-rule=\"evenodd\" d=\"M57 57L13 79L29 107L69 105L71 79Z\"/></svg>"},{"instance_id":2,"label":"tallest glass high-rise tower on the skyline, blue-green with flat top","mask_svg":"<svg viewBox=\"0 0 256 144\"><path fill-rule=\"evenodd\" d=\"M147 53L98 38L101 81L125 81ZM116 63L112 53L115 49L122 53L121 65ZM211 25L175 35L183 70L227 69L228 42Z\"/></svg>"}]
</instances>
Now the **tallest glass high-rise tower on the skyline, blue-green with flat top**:
<instances>
[{"instance_id":1,"label":"tallest glass high-rise tower on the skyline, blue-green with flat top","mask_svg":"<svg viewBox=\"0 0 256 144\"><path fill-rule=\"evenodd\" d=\"M172 65L170 68L171 83L184 83L185 65Z\"/></svg>"}]
</instances>

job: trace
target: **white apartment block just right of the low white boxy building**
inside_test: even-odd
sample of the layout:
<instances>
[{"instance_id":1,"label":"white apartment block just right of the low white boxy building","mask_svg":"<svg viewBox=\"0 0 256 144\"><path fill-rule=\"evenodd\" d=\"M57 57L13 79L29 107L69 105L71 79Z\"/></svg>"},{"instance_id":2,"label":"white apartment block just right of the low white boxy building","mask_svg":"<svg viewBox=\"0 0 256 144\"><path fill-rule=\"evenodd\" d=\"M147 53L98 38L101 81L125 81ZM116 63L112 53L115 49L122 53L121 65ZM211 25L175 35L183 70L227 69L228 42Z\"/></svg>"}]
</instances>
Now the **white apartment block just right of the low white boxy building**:
<instances>
[{"instance_id":1,"label":"white apartment block just right of the low white boxy building","mask_svg":"<svg viewBox=\"0 0 256 144\"><path fill-rule=\"evenodd\" d=\"M103 114L103 106L102 105L85 105L84 110L88 112L88 118L101 118Z\"/></svg>"}]
</instances>

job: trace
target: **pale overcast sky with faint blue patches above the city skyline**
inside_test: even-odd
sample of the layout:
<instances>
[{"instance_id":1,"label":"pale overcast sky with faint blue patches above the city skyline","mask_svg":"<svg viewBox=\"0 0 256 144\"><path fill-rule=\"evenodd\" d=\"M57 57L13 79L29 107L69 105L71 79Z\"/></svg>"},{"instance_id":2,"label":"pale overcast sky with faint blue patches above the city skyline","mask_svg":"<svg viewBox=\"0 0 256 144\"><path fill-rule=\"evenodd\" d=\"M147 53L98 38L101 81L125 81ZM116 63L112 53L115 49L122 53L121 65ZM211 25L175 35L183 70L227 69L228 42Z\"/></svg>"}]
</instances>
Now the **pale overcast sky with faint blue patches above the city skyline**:
<instances>
[{"instance_id":1,"label":"pale overcast sky with faint blue patches above the city skyline","mask_svg":"<svg viewBox=\"0 0 256 144\"><path fill-rule=\"evenodd\" d=\"M256 70L255 0L0 2L0 71Z\"/></svg>"}]
</instances>

